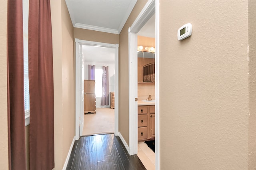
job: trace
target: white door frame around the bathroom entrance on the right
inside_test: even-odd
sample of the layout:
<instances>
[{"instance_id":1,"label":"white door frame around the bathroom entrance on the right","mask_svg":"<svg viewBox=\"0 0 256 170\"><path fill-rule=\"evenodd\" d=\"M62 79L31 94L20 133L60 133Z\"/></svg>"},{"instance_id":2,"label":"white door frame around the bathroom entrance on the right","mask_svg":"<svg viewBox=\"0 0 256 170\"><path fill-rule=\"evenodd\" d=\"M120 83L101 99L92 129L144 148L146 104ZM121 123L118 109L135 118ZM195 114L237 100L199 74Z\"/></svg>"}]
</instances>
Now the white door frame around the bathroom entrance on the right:
<instances>
[{"instance_id":1,"label":"white door frame around the bathroom entrance on the right","mask_svg":"<svg viewBox=\"0 0 256 170\"><path fill-rule=\"evenodd\" d=\"M129 34L129 154L138 153L138 109L137 103L134 102L136 95L138 95L138 80L134 74L134 68L138 67L137 62L137 33L148 22L148 20L156 14L156 74L155 74L155 115L156 115L156 169L160 169L160 138L159 138L159 0L148 0L132 26L128 29Z\"/></svg>"}]
</instances>

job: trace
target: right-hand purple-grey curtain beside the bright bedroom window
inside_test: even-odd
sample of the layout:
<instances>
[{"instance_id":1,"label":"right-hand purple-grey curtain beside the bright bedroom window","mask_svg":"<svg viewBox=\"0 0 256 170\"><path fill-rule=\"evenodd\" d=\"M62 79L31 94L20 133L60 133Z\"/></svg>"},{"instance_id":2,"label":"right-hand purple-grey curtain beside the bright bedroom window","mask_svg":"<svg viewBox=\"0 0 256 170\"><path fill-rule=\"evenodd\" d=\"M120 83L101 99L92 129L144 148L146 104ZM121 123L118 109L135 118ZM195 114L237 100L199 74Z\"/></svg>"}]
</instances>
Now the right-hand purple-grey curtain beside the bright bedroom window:
<instances>
[{"instance_id":1,"label":"right-hand purple-grey curtain beside the bright bedroom window","mask_svg":"<svg viewBox=\"0 0 256 170\"><path fill-rule=\"evenodd\" d=\"M102 66L102 98L101 105L109 105L108 101L108 66Z\"/></svg>"}]
</instances>

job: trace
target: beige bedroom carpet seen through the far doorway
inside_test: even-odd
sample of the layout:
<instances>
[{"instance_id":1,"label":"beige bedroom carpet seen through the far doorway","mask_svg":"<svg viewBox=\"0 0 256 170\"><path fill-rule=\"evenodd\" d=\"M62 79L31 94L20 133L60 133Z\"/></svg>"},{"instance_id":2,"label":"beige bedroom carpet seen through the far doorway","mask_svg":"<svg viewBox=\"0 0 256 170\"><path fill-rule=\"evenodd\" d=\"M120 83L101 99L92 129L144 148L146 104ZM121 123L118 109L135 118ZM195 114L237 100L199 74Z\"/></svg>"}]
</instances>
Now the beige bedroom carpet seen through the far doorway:
<instances>
[{"instance_id":1,"label":"beige bedroom carpet seen through the far doorway","mask_svg":"<svg viewBox=\"0 0 256 170\"><path fill-rule=\"evenodd\" d=\"M96 114L84 115L83 136L114 133L115 109L99 108Z\"/></svg>"}]
</instances>

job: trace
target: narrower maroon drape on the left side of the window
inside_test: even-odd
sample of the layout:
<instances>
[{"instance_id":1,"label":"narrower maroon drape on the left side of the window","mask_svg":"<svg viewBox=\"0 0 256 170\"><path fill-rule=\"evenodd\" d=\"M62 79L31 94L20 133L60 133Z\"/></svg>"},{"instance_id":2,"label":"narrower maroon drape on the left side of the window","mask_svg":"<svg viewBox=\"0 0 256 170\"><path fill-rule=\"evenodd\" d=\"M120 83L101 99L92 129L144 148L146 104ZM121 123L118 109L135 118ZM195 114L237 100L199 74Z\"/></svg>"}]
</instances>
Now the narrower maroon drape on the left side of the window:
<instances>
[{"instance_id":1,"label":"narrower maroon drape on the left side of the window","mask_svg":"<svg viewBox=\"0 0 256 170\"><path fill-rule=\"evenodd\" d=\"M9 170L26 170L22 17L22 1L8 0L7 103Z\"/></svg>"}]
</instances>

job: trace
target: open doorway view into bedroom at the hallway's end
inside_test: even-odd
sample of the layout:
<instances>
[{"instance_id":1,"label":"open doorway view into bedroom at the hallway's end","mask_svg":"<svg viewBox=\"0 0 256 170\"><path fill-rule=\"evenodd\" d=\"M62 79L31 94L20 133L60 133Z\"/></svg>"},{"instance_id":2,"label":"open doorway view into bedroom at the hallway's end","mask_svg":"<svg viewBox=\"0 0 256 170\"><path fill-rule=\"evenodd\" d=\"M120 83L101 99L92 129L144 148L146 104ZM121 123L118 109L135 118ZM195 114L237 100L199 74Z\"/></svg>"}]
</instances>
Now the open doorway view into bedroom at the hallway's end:
<instances>
[{"instance_id":1,"label":"open doorway view into bedroom at the hallway's end","mask_svg":"<svg viewBox=\"0 0 256 170\"><path fill-rule=\"evenodd\" d=\"M115 91L115 48L96 45L81 46L84 83L94 83L93 94L90 94L91 89L84 86L82 136L114 133L114 102L112 100Z\"/></svg>"}]
</instances>

